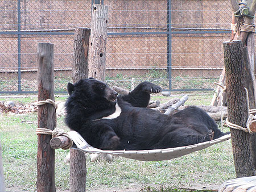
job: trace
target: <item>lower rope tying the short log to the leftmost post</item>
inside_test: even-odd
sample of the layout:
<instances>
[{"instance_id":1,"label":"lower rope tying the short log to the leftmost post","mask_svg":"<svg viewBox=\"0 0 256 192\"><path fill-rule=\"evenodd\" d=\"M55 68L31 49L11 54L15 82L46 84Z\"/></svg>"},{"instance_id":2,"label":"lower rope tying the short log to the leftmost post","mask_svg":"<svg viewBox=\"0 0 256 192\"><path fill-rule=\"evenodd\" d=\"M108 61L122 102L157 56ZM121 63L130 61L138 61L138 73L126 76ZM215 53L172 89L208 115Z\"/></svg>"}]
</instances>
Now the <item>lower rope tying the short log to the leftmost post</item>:
<instances>
[{"instance_id":1,"label":"lower rope tying the short log to the leftmost post","mask_svg":"<svg viewBox=\"0 0 256 192\"><path fill-rule=\"evenodd\" d=\"M43 134L43 135L52 135L53 137L58 137L58 136L65 136L68 137L68 145L66 147L62 147L61 149L69 149L73 146L73 140L71 137L68 135L68 133L64 132L64 130L61 130L59 128L55 128L54 130L49 130L48 128L36 128L36 135Z\"/></svg>"}]
</instances>

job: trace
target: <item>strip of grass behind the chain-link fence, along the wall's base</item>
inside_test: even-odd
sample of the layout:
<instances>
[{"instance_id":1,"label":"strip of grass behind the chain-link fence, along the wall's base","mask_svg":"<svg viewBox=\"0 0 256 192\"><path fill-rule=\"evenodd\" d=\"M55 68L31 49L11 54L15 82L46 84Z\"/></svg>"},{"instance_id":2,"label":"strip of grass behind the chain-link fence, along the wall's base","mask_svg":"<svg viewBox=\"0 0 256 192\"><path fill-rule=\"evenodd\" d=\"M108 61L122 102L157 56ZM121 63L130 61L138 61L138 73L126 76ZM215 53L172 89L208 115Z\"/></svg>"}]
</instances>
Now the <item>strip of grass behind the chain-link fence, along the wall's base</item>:
<instances>
[{"instance_id":1,"label":"strip of grass behind the chain-link fence, along the wall's base","mask_svg":"<svg viewBox=\"0 0 256 192\"><path fill-rule=\"evenodd\" d=\"M136 70L137 71L137 70ZM134 78L134 85L138 85L142 81L151 81L158 84L163 89L169 89L169 79L167 76L167 71L163 69L148 69L142 70L139 74L138 72L129 70L126 74L108 74L106 71L105 81L109 85L119 86L125 89L131 89L131 80ZM35 74L31 74L33 76ZM172 89L213 89L215 85L214 81L218 81L219 77L192 77L192 76L172 76L171 77L171 87ZM17 91L18 90L18 80L16 77L10 77L2 79L0 81L1 91ZM67 91L68 82L72 82L71 73L60 74L55 76L55 91ZM15 86L14 86L15 85ZM36 78L34 80L27 80L22 78L21 80L21 90L22 91L36 91L37 83Z\"/></svg>"}]
</instances>

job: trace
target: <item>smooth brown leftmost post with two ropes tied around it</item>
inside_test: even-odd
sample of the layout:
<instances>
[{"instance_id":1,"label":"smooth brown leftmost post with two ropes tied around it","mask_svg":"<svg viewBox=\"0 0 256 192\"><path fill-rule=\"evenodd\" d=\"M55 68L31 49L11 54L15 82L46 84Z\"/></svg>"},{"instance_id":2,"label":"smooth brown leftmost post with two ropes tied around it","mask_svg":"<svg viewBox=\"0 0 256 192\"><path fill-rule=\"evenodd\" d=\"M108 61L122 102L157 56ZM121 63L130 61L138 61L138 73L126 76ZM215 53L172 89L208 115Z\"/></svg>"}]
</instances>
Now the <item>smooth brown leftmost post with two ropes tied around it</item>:
<instances>
[{"instance_id":1,"label":"smooth brown leftmost post with two ropes tied around it","mask_svg":"<svg viewBox=\"0 0 256 192\"><path fill-rule=\"evenodd\" d=\"M38 44L38 101L54 101L53 44ZM38 127L54 130L55 108L51 104L38 106ZM51 135L38 135L37 181L38 192L56 191L54 163L55 151L49 141Z\"/></svg>"}]
</instances>

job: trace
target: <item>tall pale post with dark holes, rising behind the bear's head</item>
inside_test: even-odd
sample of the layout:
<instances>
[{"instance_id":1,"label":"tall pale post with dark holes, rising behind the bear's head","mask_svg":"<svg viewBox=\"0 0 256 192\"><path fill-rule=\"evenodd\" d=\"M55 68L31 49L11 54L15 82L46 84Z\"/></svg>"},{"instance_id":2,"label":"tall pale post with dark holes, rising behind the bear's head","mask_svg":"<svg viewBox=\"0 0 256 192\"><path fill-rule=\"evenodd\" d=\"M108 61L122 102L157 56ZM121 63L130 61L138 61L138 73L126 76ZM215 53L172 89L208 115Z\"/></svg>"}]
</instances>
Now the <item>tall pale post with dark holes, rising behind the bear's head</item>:
<instances>
[{"instance_id":1,"label":"tall pale post with dark holes, rising behind the bear's head","mask_svg":"<svg viewBox=\"0 0 256 192\"><path fill-rule=\"evenodd\" d=\"M93 5L92 32L89 49L89 77L104 81L106 70L106 38L108 6Z\"/></svg>"}]
</instances>

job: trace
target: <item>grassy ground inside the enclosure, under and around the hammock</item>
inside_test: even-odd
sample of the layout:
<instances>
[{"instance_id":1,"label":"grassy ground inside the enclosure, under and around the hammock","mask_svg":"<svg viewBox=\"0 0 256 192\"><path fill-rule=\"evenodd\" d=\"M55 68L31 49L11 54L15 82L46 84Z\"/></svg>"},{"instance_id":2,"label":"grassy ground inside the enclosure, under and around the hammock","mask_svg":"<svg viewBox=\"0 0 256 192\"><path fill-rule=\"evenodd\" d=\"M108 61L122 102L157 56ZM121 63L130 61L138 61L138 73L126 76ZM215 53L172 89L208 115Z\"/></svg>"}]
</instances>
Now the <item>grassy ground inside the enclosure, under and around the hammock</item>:
<instances>
[{"instance_id":1,"label":"grassy ground inside the enclosure, under and around the hammock","mask_svg":"<svg viewBox=\"0 0 256 192\"><path fill-rule=\"evenodd\" d=\"M174 93L175 94L175 93ZM182 95L174 95L182 97ZM154 95L153 100L164 102L172 97ZM212 93L191 94L187 105L209 105ZM0 98L15 103L31 103L36 97ZM65 101L67 97L56 97ZM3 167L7 187L18 187L24 191L36 191L37 114L0 115L0 139ZM57 127L68 128L63 116L58 118ZM225 131L228 131L225 128ZM68 150L55 151L55 184L58 190L69 189L69 164L64 163ZM86 161L87 189L126 189L136 187L142 192L183 192L195 186L220 185L235 178L232 148L229 141L207 149L168 161L135 161L118 156L112 162ZM183 188L183 189L179 189ZM187 190L188 191L188 190ZM196 190L193 190L196 191ZM207 191L207 190L205 190Z\"/></svg>"}]
</instances>

